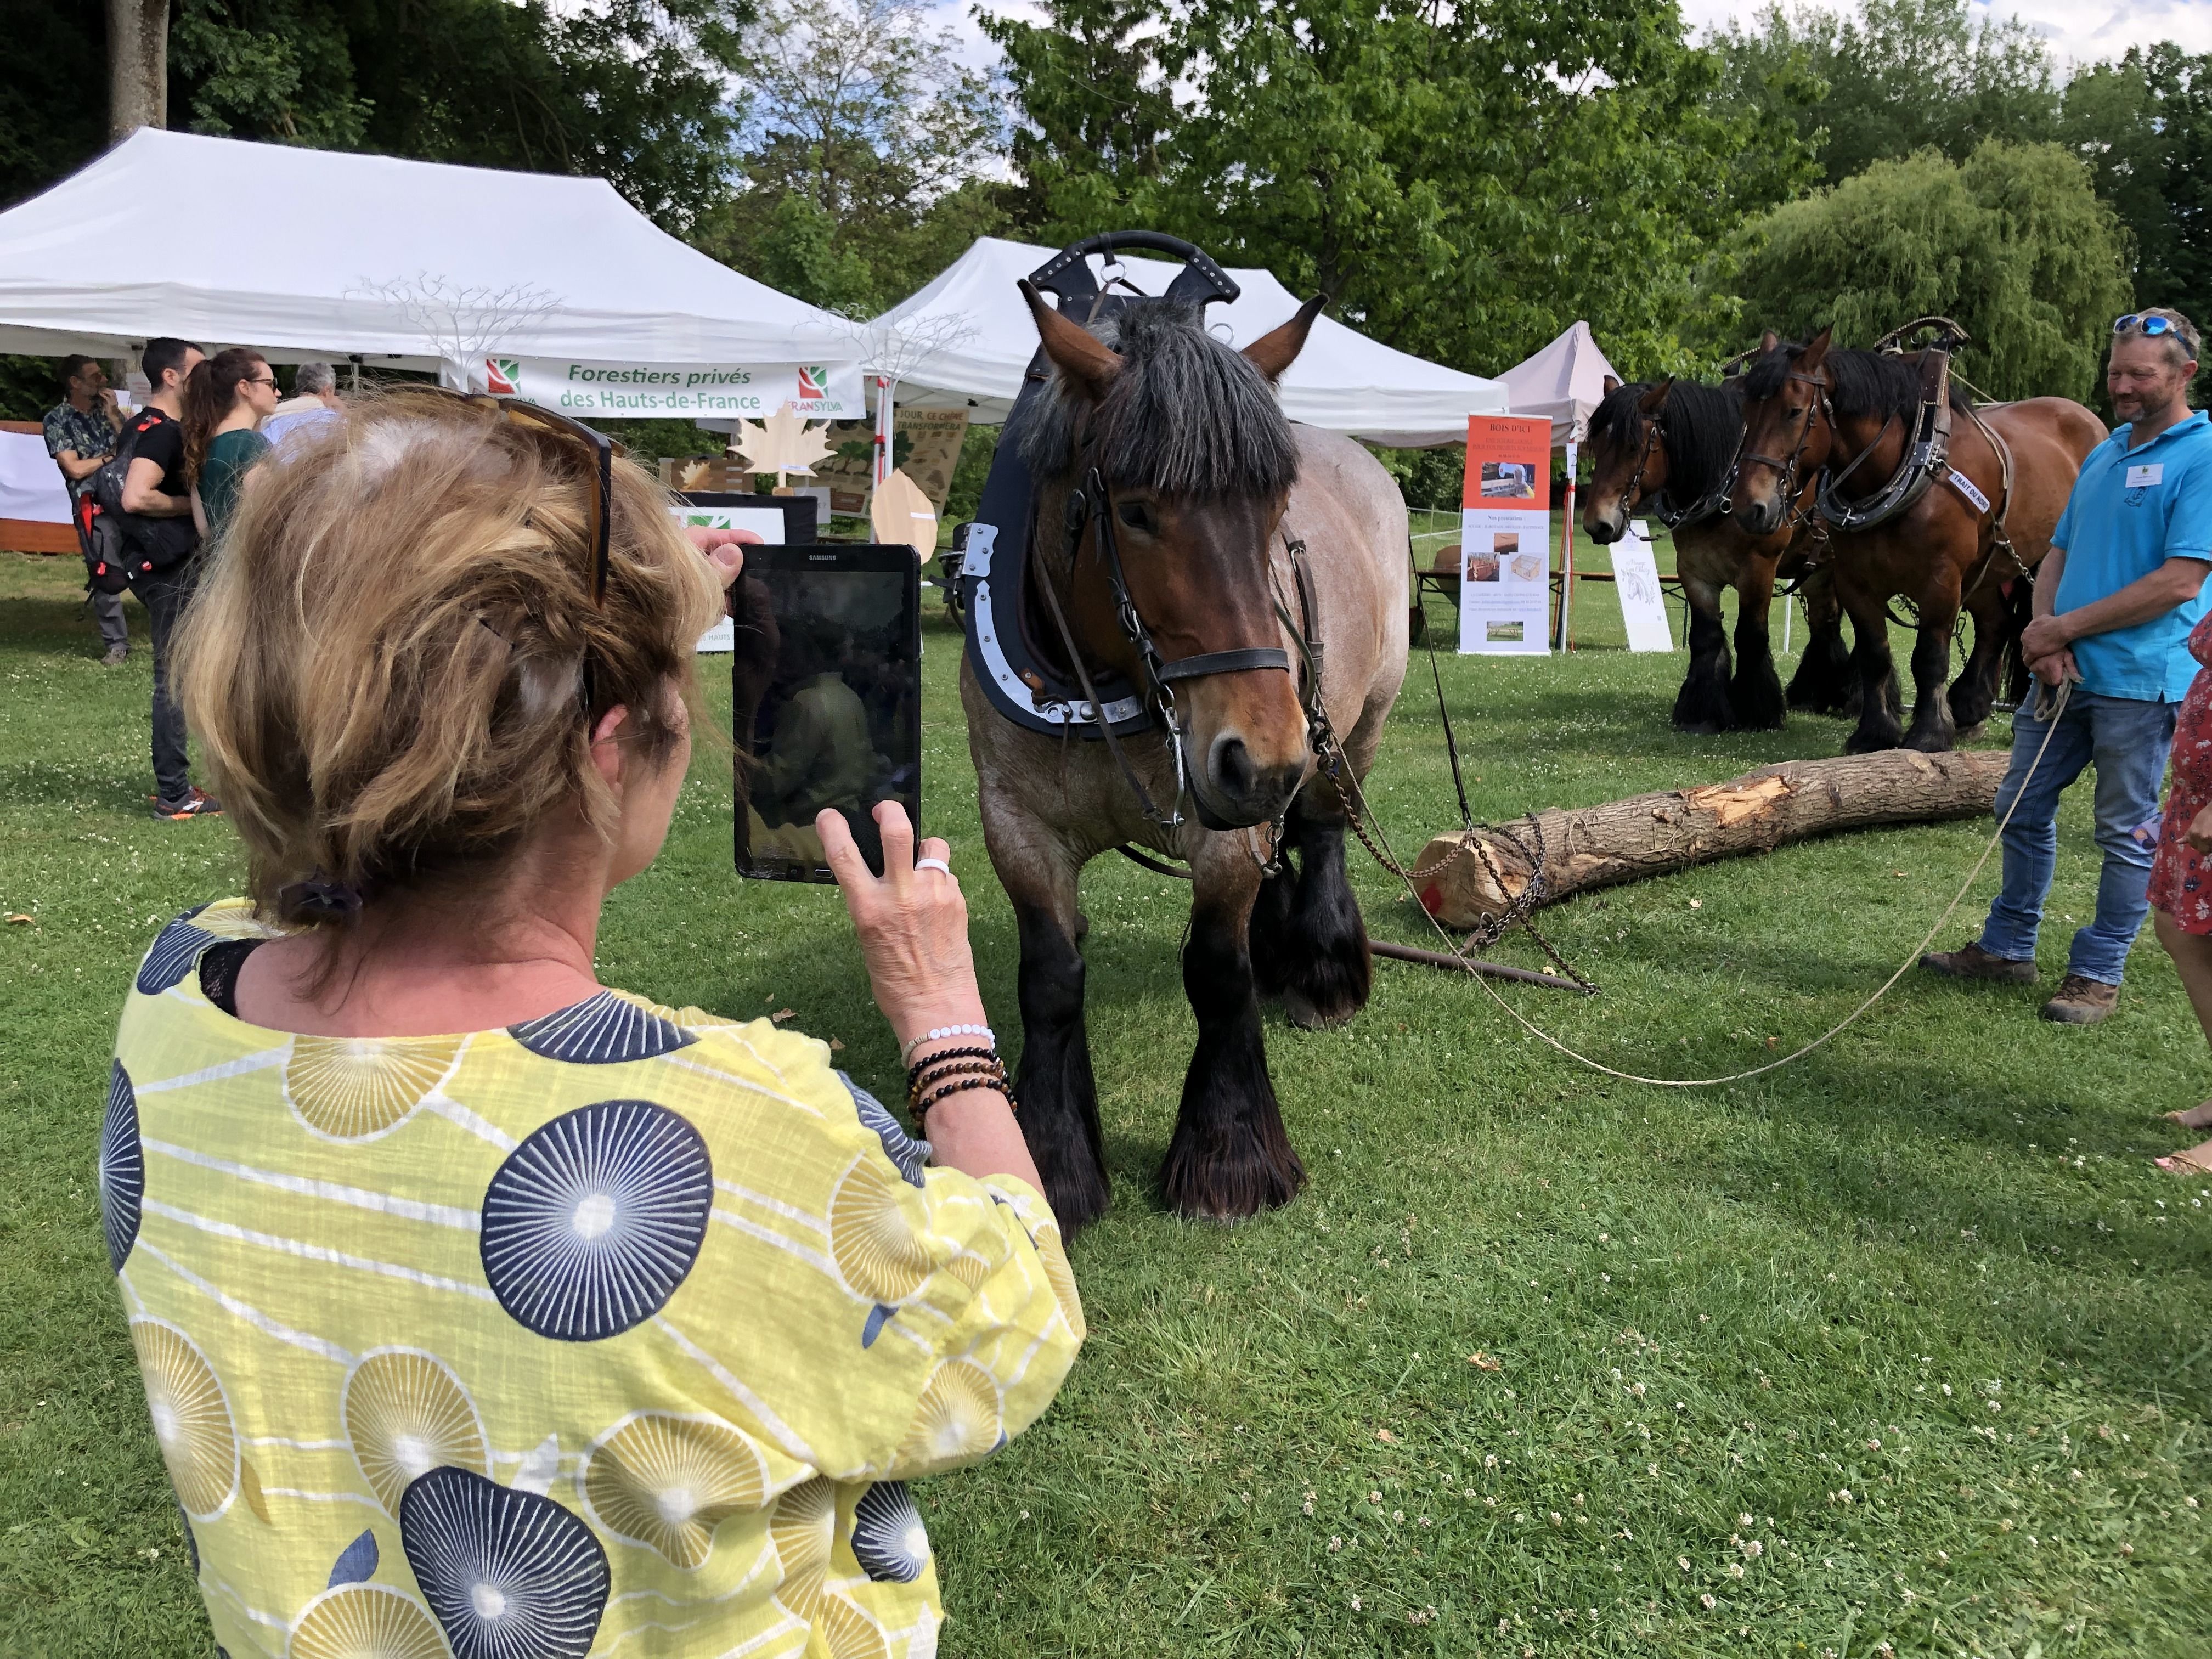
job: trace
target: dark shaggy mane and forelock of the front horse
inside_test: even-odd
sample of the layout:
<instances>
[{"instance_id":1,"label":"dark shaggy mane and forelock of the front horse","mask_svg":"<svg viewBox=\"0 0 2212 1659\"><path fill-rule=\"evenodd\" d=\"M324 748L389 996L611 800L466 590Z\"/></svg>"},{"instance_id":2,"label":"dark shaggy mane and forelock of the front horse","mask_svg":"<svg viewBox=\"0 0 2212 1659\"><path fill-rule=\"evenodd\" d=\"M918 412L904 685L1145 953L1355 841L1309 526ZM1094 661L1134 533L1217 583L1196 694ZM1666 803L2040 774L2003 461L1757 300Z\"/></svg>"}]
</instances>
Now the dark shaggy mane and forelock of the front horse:
<instances>
[{"instance_id":1,"label":"dark shaggy mane and forelock of the front horse","mask_svg":"<svg viewBox=\"0 0 2212 1659\"><path fill-rule=\"evenodd\" d=\"M1097 407L1057 372L1044 383L1020 436L1037 478L1068 473L1084 438L1106 482L1124 489L1267 498L1298 478L1274 387L1194 307L1144 301L1091 332L1121 354L1121 372Z\"/></svg>"}]
</instances>

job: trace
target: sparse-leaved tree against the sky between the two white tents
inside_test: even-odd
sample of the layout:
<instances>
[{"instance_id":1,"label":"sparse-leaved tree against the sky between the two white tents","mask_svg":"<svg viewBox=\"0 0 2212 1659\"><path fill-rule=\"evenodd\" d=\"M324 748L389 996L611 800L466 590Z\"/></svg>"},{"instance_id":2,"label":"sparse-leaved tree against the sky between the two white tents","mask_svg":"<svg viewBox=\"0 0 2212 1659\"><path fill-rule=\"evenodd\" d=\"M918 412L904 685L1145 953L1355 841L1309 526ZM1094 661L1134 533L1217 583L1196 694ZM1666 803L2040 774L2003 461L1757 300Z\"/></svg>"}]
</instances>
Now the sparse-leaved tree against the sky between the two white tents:
<instances>
[{"instance_id":1,"label":"sparse-leaved tree against the sky between the two white tents","mask_svg":"<svg viewBox=\"0 0 2212 1659\"><path fill-rule=\"evenodd\" d=\"M1002 223L973 177L998 97L918 0L770 0L748 60L743 184L695 232L717 259L874 314Z\"/></svg>"}]
</instances>

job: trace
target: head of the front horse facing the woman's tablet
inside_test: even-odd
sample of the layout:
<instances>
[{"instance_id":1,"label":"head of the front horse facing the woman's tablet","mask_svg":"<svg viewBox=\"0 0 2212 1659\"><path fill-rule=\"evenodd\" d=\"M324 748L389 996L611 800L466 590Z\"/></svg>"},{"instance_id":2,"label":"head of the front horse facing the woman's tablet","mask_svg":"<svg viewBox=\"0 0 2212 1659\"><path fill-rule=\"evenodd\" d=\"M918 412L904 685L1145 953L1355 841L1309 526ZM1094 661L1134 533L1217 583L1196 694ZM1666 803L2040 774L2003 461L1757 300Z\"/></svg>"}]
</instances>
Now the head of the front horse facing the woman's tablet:
<instances>
[{"instance_id":1,"label":"head of the front horse facing the woman's tablet","mask_svg":"<svg viewBox=\"0 0 2212 1659\"><path fill-rule=\"evenodd\" d=\"M1055 374L1026 420L1022 458L1037 478L1037 538L1091 529L1075 546L1073 615L1093 661L1144 684L1099 551L1099 518L1135 613L1159 657L1283 648L1267 544L1283 522L1298 449L1274 380L1305 345L1323 301L1237 352L1203 316L1168 301L1130 305L1104 336L1022 294ZM1110 341L1110 343L1108 343ZM1091 476L1102 502L1071 511ZM1274 818L1312 763L1296 664L1172 679L1199 821L1234 830Z\"/></svg>"}]
</instances>

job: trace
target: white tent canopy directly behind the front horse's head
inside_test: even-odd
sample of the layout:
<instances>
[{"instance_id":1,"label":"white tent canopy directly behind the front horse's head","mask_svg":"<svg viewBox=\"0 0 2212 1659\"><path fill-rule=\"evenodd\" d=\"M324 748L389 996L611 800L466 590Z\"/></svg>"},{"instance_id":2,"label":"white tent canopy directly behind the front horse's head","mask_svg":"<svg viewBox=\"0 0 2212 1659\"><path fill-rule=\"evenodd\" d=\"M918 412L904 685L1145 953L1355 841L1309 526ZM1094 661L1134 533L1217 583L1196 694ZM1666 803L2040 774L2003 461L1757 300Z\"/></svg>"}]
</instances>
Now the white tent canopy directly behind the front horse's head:
<instances>
[{"instance_id":1,"label":"white tent canopy directly behind the front horse's head","mask_svg":"<svg viewBox=\"0 0 2212 1659\"><path fill-rule=\"evenodd\" d=\"M1037 349L1037 327L1013 285L1055 252L980 237L933 283L878 316L872 325L878 334L911 347L898 400L920 409L964 407L980 422L1004 420ZM1093 257L1091 265L1099 270L1102 261ZM1181 270L1128 254L1121 265L1128 283L1146 294L1166 292ZM1272 272L1232 270L1230 276L1243 296L1234 305L1206 307L1208 323L1230 345L1250 345L1298 310L1298 296ZM1380 445L1429 447L1464 442L1471 414L1506 414L1506 389L1394 352L1321 316L1283 376L1283 411Z\"/></svg>"}]
</instances>

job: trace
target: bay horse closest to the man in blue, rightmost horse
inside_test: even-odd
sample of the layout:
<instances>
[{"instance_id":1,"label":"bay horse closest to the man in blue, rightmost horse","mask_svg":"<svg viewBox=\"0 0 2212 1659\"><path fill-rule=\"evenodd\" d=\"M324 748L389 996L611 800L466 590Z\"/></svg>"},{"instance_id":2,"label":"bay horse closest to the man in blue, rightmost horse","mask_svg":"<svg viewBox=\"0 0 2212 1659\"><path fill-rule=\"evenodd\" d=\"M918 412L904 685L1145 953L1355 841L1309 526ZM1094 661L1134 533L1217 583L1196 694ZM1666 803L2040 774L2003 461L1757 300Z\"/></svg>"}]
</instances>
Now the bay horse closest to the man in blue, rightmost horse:
<instances>
[{"instance_id":1,"label":"bay horse closest to the man in blue, rightmost horse","mask_svg":"<svg viewBox=\"0 0 2212 1659\"><path fill-rule=\"evenodd\" d=\"M1858 473L1856 495L1876 498L1907 460L1922 400L1918 352L1832 347L1829 330L1805 345L1774 345L1743 374L1743 453L1732 507L1747 535L1772 535L1801 511L1801 482L1827 469L1836 480ZM1858 668L1858 728L1845 754L1905 748L1949 750L1962 730L1989 719L1997 668L2017 657L2028 617L2031 575L2051 551L2081 460L2104 442L2104 422L2070 398L1993 403L1951 429L1944 476L1905 511L1867 529L1829 524L1836 593L1851 615ZM1973 418L1980 414L1980 420ZM2004 442L2002 456L1982 422ZM2011 588L2011 593L2006 593ZM1907 730L1889 653L1889 602L1909 597L1918 611L1913 644L1913 719ZM1951 679L1951 633L1958 613L1973 617L1973 650ZM2015 661L2015 679L2020 679Z\"/></svg>"}]
</instances>

